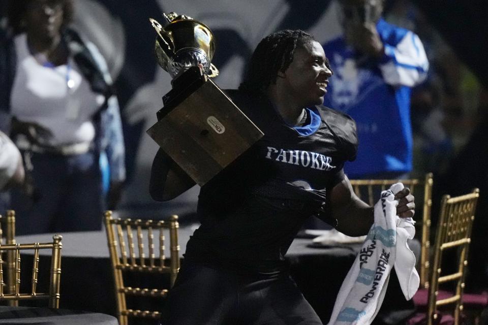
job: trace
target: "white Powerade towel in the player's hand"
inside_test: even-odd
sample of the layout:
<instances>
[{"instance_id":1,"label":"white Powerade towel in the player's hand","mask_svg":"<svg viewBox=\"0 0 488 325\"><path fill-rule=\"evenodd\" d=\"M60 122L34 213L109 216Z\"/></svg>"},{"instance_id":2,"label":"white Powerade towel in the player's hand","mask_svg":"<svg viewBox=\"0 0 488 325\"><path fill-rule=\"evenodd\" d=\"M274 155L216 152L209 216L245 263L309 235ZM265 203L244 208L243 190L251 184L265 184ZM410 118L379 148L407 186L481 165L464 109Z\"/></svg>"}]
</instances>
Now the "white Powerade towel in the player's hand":
<instances>
[{"instance_id":1,"label":"white Powerade towel in the player's hand","mask_svg":"<svg viewBox=\"0 0 488 325\"><path fill-rule=\"evenodd\" d=\"M414 221L396 216L394 194L403 187L396 183L381 192L374 224L342 283L328 325L370 324L383 303L393 265L405 298L416 293L420 280L415 255L407 244L415 235Z\"/></svg>"}]
</instances>

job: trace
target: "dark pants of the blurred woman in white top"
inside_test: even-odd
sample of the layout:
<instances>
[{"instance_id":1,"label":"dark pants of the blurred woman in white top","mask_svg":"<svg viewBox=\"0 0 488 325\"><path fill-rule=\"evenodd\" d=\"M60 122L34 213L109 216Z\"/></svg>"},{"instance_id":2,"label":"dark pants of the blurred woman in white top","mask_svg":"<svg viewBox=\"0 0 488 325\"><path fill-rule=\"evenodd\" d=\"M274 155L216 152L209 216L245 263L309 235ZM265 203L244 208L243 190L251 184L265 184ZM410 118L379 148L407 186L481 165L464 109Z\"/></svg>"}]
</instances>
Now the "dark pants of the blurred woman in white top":
<instances>
[{"instance_id":1,"label":"dark pants of the blurred woman in white top","mask_svg":"<svg viewBox=\"0 0 488 325\"><path fill-rule=\"evenodd\" d=\"M12 190L18 235L102 229L102 176L97 153L33 153L31 160L38 197Z\"/></svg>"}]
</instances>

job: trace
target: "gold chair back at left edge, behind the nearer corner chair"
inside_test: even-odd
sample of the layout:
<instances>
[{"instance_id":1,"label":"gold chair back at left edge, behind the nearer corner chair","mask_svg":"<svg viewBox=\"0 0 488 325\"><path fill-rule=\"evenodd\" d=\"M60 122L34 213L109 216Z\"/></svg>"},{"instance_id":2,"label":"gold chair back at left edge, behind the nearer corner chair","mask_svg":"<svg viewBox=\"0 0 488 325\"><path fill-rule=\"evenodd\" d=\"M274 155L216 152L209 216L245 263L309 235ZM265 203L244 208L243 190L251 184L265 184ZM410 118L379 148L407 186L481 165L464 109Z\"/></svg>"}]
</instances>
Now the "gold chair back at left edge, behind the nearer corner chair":
<instances>
[{"instance_id":1,"label":"gold chair back at left edge, behind the nearer corner chair","mask_svg":"<svg viewBox=\"0 0 488 325\"><path fill-rule=\"evenodd\" d=\"M2 217L0 215L0 245L13 245L15 244L15 211L7 210L7 216ZM3 251L0 251L0 255ZM0 256L0 259L7 263L7 292L15 292L15 251L5 251L4 256ZM5 274L4 274L5 277ZM9 306L18 306L17 300L9 300Z\"/></svg>"}]
</instances>

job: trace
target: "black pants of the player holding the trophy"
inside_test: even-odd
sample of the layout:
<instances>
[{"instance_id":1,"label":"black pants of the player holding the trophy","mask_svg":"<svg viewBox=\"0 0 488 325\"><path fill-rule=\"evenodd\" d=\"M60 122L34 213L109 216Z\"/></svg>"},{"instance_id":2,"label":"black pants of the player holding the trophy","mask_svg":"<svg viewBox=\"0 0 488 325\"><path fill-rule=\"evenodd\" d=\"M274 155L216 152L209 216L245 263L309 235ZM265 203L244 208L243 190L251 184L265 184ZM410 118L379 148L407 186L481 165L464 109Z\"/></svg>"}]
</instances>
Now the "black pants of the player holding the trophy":
<instances>
[{"instance_id":1,"label":"black pants of the player holding the trophy","mask_svg":"<svg viewBox=\"0 0 488 325\"><path fill-rule=\"evenodd\" d=\"M242 276L186 262L169 292L164 325L322 324L288 275Z\"/></svg>"}]
</instances>

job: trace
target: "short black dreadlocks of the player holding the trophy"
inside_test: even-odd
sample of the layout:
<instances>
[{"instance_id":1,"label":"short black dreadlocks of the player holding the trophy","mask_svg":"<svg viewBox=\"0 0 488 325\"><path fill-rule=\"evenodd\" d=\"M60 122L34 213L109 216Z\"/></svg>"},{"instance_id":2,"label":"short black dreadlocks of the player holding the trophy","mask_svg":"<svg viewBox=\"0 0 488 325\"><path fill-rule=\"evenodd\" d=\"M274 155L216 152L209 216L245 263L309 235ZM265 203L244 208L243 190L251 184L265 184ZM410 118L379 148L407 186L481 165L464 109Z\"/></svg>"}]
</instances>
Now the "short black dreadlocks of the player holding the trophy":
<instances>
[{"instance_id":1,"label":"short black dreadlocks of the player holding the trophy","mask_svg":"<svg viewBox=\"0 0 488 325\"><path fill-rule=\"evenodd\" d=\"M276 83L278 73L288 69L295 49L313 41L312 35L299 29L281 30L266 36L254 50L239 89L264 94L270 84Z\"/></svg>"}]
</instances>

